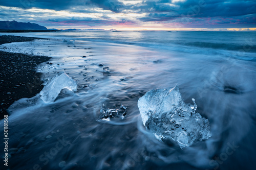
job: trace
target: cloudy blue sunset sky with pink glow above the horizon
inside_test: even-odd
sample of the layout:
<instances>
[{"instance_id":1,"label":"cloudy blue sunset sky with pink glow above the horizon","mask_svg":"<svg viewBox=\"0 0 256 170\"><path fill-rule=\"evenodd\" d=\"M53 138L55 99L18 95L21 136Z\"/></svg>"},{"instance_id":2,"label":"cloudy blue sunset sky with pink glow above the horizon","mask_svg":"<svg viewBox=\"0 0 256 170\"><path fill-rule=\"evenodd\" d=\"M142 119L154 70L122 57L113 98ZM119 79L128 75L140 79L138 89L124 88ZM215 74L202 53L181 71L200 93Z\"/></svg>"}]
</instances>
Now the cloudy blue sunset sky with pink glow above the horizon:
<instances>
[{"instance_id":1,"label":"cloudy blue sunset sky with pink glow above the horizon","mask_svg":"<svg viewBox=\"0 0 256 170\"><path fill-rule=\"evenodd\" d=\"M256 1L11 0L0 20L48 29L256 30Z\"/></svg>"}]
</instances>

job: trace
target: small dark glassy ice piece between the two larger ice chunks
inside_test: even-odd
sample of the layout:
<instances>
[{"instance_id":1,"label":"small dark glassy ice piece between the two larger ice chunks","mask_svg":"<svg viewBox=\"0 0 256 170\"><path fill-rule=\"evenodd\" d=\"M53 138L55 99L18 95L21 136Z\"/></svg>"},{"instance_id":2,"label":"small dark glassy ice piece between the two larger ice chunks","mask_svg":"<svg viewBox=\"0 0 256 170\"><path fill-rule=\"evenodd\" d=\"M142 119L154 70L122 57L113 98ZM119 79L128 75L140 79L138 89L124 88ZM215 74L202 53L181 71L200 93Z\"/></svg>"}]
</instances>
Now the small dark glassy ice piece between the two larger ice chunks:
<instances>
[{"instance_id":1,"label":"small dark glassy ice piece between the two larger ice chunks","mask_svg":"<svg viewBox=\"0 0 256 170\"><path fill-rule=\"evenodd\" d=\"M123 105L120 106L120 109L109 109L106 107L106 105L102 104L99 119L105 121L110 121L111 117L120 117L121 119L123 119L126 115L125 110L126 107Z\"/></svg>"}]
</instances>

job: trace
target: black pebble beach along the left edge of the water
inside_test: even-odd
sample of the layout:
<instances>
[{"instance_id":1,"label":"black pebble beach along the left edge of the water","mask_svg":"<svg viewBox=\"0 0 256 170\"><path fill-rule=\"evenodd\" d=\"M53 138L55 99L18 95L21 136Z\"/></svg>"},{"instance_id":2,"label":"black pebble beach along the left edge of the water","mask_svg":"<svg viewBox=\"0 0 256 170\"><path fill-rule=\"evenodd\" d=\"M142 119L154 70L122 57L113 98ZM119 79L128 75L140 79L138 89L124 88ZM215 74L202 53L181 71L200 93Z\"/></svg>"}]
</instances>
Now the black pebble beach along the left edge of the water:
<instances>
[{"instance_id":1,"label":"black pebble beach along the left edge of the water","mask_svg":"<svg viewBox=\"0 0 256 170\"><path fill-rule=\"evenodd\" d=\"M11 42L34 41L34 37L0 36L0 45ZM0 51L0 119L8 114L6 109L22 98L31 98L44 87L40 72L35 67L50 57L31 56Z\"/></svg>"}]
</instances>

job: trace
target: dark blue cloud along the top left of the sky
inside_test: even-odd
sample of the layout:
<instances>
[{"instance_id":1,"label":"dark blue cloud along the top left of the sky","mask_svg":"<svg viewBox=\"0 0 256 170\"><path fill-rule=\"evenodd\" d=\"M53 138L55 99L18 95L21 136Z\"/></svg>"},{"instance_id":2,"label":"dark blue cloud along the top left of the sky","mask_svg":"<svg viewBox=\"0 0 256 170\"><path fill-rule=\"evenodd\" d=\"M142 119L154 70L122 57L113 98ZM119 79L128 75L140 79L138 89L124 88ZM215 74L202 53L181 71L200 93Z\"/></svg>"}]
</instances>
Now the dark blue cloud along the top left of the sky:
<instances>
[{"instance_id":1,"label":"dark blue cloud along the top left of the sky","mask_svg":"<svg viewBox=\"0 0 256 170\"><path fill-rule=\"evenodd\" d=\"M72 10L73 8L99 7L113 12L119 12L123 3L118 0L12 0L1 1L1 6L18 7L23 9L40 8L52 10Z\"/></svg>"}]
</instances>

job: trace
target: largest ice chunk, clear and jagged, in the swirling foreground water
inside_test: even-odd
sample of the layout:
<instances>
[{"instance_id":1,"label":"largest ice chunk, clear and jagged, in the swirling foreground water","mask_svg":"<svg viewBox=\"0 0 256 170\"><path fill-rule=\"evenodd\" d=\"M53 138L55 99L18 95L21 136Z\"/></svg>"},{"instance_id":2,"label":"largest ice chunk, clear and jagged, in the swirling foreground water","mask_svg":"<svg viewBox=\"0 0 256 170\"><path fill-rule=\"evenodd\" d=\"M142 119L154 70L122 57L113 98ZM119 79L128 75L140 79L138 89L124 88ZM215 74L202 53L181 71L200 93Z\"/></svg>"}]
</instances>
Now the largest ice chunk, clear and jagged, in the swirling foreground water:
<instances>
[{"instance_id":1,"label":"largest ice chunk, clear and jagged, in the swirling foreground water","mask_svg":"<svg viewBox=\"0 0 256 170\"><path fill-rule=\"evenodd\" d=\"M144 126L157 139L174 141L181 149L211 136L209 121L196 113L197 105L184 103L179 86L148 91L138 101Z\"/></svg>"}]
</instances>

